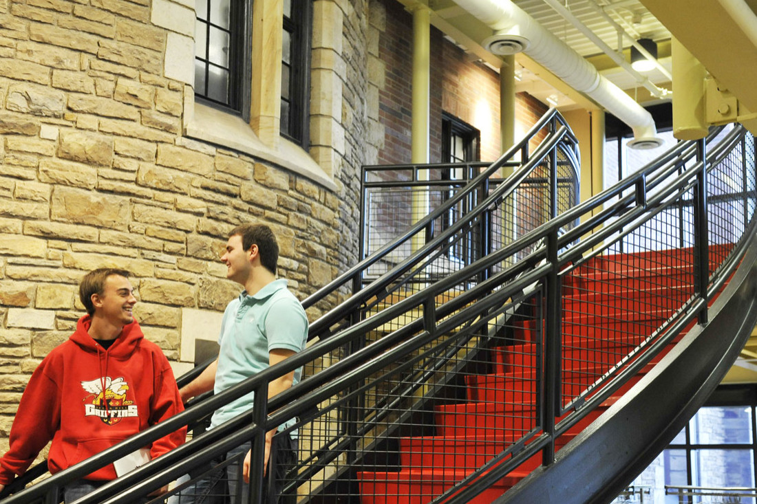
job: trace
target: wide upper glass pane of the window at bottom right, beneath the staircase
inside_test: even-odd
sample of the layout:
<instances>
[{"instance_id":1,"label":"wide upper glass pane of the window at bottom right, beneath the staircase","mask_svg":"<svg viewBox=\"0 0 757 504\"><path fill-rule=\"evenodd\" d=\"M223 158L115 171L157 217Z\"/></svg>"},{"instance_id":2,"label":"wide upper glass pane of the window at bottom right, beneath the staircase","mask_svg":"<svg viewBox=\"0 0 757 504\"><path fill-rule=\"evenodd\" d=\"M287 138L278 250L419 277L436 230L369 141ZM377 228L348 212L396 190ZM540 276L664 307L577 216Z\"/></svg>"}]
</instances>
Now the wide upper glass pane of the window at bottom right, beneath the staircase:
<instances>
[{"instance_id":1,"label":"wide upper glass pane of the window at bottom right, beneath the staircase","mask_svg":"<svg viewBox=\"0 0 757 504\"><path fill-rule=\"evenodd\" d=\"M752 409L746 406L700 408L691 419L692 444L752 443Z\"/></svg>"}]
</instances>

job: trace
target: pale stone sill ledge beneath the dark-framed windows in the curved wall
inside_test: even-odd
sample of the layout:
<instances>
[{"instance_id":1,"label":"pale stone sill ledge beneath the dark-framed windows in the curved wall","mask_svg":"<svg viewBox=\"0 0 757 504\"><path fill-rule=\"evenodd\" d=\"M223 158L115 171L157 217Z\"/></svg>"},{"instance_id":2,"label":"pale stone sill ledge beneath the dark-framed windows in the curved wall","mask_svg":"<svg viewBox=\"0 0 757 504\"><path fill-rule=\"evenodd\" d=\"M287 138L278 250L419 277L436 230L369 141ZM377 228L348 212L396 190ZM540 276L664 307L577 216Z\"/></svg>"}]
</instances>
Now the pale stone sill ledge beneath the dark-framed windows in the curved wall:
<instances>
[{"instance_id":1,"label":"pale stone sill ledge beneath the dark-framed windows in the curved wall","mask_svg":"<svg viewBox=\"0 0 757 504\"><path fill-rule=\"evenodd\" d=\"M327 189L336 190L337 185L332 178L299 145L282 137L278 148L270 148L260 142L250 125L241 117L196 102L194 106L195 113L184 130L188 138L250 154L291 170Z\"/></svg>"}]
</instances>

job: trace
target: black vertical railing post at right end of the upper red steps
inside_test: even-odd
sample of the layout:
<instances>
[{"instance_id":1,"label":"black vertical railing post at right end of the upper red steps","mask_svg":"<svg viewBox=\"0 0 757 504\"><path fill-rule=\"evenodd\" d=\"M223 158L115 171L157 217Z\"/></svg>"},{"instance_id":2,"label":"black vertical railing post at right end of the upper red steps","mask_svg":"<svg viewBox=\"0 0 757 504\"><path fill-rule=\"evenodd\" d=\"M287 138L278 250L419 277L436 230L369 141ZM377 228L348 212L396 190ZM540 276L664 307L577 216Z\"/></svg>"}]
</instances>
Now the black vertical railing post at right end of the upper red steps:
<instances>
[{"instance_id":1,"label":"black vertical railing post at right end of the upper red steps","mask_svg":"<svg viewBox=\"0 0 757 504\"><path fill-rule=\"evenodd\" d=\"M707 301L709 283L709 226L707 222L707 145L705 138L696 142L696 159L702 169L696 175L694 190L694 293ZM699 310L699 323L707 322L707 304Z\"/></svg>"}]
</instances>

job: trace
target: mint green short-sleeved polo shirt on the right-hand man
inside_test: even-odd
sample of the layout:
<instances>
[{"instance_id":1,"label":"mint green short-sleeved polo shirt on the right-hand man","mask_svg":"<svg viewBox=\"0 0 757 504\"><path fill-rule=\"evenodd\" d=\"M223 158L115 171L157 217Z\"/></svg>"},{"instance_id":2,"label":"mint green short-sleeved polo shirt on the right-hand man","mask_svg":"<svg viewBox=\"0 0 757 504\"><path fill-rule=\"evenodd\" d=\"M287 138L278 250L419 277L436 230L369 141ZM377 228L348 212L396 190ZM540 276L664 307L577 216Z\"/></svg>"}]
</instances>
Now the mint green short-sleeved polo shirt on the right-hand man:
<instances>
[{"instance_id":1,"label":"mint green short-sleeved polo shirt on the right-hand man","mask_svg":"<svg viewBox=\"0 0 757 504\"><path fill-rule=\"evenodd\" d=\"M304 350L307 342L307 316L302 304L287 289L284 279L274 280L254 296L242 291L226 306L218 337L218 369L213 390L223 392L255 373L268 368L269 352L274 349ZM294 371L294 384L300 381L302 368ZM251 409L251 392L217 409L210 428L217 427ZM294 424L294 419L279 429Z\"/></svg>"}]
</instances>

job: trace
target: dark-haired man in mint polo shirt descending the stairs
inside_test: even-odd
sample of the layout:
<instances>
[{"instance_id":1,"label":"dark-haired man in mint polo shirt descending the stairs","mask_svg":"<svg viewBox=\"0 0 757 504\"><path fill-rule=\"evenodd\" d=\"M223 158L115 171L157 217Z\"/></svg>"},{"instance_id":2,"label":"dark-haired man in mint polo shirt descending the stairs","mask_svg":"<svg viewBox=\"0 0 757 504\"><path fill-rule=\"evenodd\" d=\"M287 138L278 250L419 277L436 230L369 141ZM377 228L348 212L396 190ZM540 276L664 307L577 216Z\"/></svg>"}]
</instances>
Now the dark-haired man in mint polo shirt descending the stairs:
<instances>
[{"instance_id":1,"label":"dark-haired man in mint polo shirt descending the stairs","mask_svg":"<svg viewBox=\"0 0 757 504\"><path fill-rule=\"evenodd\" d=\"M226 243L226 254L221 261L226 264L226 277L242 285L245 290L232 300L223 313L218 338L218 358L198 378L182 387L179 393L185 402L213 389L215 394L238 384L263 369L293 356L305 347L307 341L307 316L301 303L287 289L287 282L276 279L276 264L279 260L279 245L268 226L245 224L233 229ZM268 397L276 396L300 381L302 369L272 381ZM248 394L223 406L213 413L210 428L223 424L252 407L253 395ZM266 488L263 502L279 502L285 473L296 462L297 440L291 434L277 431L294 424L281 425L266 433L266 474L275 475L274 483ZM229 494L232 502L237 493L248 493L250 443L245 443L227 454L227 458L247 452L243 465L245 484L237 488L238 465L227 469ZM272 454L275 453L274 456ZM270 464L269 462L274 462ZM220 471L219 471L220 472ZM198 483L191 499L181 502L217 502L217 483L223 474ZM213 487L216 487L213 490Z\"/></svg>"}]
</instances>

